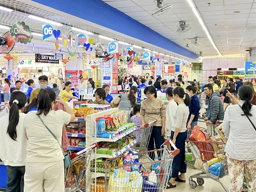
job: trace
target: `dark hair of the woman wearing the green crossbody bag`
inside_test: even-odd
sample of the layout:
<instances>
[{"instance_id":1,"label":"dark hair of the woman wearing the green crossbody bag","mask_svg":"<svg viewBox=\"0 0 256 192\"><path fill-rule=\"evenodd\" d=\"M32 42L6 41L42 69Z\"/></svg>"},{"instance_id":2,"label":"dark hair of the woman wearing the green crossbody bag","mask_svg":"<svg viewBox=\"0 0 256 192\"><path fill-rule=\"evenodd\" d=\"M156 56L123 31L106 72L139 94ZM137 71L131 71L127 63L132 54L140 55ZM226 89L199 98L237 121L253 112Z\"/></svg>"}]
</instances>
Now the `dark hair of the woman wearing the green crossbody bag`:
<instances>
[{"instance_id":1,"label":"dark hair of the woman wearing the green crossbody bag","mask_svg":"<svg viewBox=\"0 0 256 192\"><path fill-rule=\"evenodd\" d=\"M38 115L44 113L46 116L52 110L52 102L55 101L55 93L52 89L41 89L38 94Z\"/></svg>"}]
</instances>

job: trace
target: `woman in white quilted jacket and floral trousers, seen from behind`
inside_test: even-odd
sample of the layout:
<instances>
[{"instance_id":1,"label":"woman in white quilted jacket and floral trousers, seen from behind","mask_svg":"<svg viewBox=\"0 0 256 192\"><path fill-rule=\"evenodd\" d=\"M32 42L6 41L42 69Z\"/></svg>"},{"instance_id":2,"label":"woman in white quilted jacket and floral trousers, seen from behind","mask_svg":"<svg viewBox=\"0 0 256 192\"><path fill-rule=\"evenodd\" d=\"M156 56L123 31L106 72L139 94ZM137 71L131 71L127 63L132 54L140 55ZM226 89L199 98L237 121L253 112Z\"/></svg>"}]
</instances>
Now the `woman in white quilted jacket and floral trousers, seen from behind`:
<instances>
[{"instance_id":1,"label":"woman in white quilted jacket and floral trousers, seen from behind","mask_svg":"<svg viewBox=\"0 0 256 192\"><path fill-rule=\"evenodd\" d=\"M230 92L228 97L236 105L226 108L223 131L228 141L225 146L228 156L230 192L241 192L244 171L248 191L256 191L256 106L252 105L253 91L248 85L240 86L238 100Z\"/></svg>"}]
</instances>

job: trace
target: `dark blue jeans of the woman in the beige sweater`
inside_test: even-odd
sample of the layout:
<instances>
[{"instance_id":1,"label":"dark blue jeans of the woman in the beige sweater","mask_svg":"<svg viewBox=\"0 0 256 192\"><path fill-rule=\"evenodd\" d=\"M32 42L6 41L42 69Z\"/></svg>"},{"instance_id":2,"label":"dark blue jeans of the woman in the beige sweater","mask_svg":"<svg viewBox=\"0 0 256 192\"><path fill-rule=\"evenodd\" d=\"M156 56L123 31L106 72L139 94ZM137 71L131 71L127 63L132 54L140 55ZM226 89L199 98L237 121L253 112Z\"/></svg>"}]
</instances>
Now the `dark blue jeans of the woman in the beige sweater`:
<instances>
[{"instance_id":1,"label":"dark blue jeans of the woman in the beige sweater","mask_svg":"<svg viewBox=\"0 0 256 192\"><path fill-rule=\"evenodd\" d=\"M156 149L160 149L161 145L164 143L164 137L161 136L162 127L159 126L153 126L152 132L150 134L150 138L148 141L148 150L154 150L154 143L156 144ZM155 142L154 142L155 141ZM154 160L155 153L150 152L149 157ZM158 157L161 157L161 151L158 151Z\"/></svg>"}]
</instances>

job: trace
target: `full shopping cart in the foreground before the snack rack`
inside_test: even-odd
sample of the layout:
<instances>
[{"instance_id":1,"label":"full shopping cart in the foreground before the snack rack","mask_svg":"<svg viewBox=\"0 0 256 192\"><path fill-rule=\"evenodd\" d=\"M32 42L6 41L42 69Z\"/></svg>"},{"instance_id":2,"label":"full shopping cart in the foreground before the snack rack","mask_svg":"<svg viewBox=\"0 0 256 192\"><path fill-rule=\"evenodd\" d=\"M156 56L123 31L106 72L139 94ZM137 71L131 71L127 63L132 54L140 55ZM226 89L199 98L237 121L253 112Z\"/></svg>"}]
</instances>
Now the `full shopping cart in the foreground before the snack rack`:
<instances>
[{"instance_id":1,"label":"full shopping cart in the foreground before the snack rack","mask_svg":"<svg viewBox=\"0 0 256 192\"><path fill-rule=\"evenodd\" d=\"M169 151L167 144L170 143L174 151ZM164 192L170 179L172 160L180 150L175 147L171 139L167 140L159 149L162 154L161 160L153 161L139 158L139 163L122 166L111 166L118 158L110 158L105 162L105 191L106 192ZM156 152L153 150L150 152ZM149 153L149 151L138 154ZM137 158L138 158L137 156ZM143 155L141 155L143 156ZM133 157L136 158L136 157ZM144 162L143 162L144 161ZM150 174L150 169L152 170Z\"/></svg>"}]
</instances>

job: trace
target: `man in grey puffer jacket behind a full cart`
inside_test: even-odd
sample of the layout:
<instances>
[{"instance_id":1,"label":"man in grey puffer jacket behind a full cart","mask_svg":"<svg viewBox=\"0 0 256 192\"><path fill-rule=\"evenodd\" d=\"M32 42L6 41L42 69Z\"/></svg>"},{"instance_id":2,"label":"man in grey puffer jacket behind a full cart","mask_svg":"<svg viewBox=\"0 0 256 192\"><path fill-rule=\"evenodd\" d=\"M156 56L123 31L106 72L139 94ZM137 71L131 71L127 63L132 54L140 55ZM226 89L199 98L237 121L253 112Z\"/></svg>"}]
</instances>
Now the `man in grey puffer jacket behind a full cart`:
<instances>
[{"instance_id":1,"label":"man in grey puffer jacket behind a full cart","mask_svg":"<svg viewBox=\"0 0 256 192\"><path fill-rule=\"evenodd\" d=\"M213 92L211 84L206 84L204 86L204 92L208 97L210 97L207 109L210 114L208 114L204 120L206 121L206 124L215 124L217 120L224 119L224 108L222 101L220 100L220 93Z\"/></svg>"}]
</instances>

